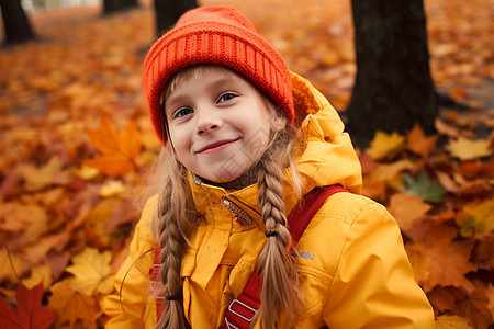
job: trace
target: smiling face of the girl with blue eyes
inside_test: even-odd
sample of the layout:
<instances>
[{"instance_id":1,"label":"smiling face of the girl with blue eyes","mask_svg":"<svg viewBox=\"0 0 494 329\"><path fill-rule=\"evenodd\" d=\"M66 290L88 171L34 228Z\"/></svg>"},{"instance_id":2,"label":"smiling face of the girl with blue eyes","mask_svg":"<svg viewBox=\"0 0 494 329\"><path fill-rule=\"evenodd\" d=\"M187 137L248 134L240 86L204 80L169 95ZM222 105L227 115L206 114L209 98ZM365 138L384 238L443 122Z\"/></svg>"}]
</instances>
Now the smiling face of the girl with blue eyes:
<instances>
[{"instance_id":1,"label":"smiling face of the girl with blue eyes","mask_svg":"<svg viewBox=\"0 0 494 329\"><path fill-rule=\"evenodd\" d=\"M169 141L192 173L217 183L233 181L262 156L270 131L284 128L285 120L227 69L209 67L192 76L165 100Z\"/></svg>"}]
</instances>

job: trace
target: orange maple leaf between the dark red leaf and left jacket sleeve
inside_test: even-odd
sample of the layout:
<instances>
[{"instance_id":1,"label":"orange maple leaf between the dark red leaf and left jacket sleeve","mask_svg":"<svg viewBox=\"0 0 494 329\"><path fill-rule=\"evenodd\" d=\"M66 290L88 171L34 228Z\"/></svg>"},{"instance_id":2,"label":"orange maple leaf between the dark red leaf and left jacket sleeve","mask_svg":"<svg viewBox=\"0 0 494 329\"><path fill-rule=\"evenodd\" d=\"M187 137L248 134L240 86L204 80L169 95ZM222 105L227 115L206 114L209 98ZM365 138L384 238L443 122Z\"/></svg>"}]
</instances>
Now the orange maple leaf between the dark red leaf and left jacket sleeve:
<instances>
[{"instance_id":1,"label":"orange maple leaf between the dark red leaf and left jacket sleeve","mask_svg":"<svg viewBox=\"0 0 494 329\"><path fill-rule=\"evenodd\" d=\"M101 314L98 302L72 288L74 277L54 284L49 305L55 308L59 322L69 321L70 328L79 320L94 321Z\"/></svg>"}]
</instances>

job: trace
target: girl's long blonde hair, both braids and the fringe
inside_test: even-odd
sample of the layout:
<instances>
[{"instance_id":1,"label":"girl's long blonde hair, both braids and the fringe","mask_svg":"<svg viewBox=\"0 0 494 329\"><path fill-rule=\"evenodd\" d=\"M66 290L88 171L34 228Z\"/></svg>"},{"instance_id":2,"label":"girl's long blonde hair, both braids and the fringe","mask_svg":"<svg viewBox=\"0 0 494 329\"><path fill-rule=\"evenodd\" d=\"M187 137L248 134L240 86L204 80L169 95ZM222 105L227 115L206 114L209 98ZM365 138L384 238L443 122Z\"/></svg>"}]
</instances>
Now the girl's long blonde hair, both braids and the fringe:
<instances>
[{"instance_id":1,"label":"girl's long blonde hair, both braids and the fringe","mask_svg":"<svg viewBox=\"0 0 494 329\"><path fill-rule=\"evenodd\" d=\"M194 66L176 75L167 84L167 97L178 83L200 77L212 66ZM217 68L218 66L214 66ZM223 68L228 72L229 69ZM256 88L256 90L258 90ZM262 94L261 94L262 95ZM262 95L268 109L280 115L276 106ZM166 128L166 127L165 127ZM287 125L281 131L270 133L270 143L262 157L255 164L258 168L259 204L268 237L256 264L256 271L262 277L261 306L254 322L261 328L281 328L293 322L303 307L303 294L300 292L295 254L291 246L290 231L284 216L283 172L291 169L292 183L299 197L301 184L292 158L295 148L295 128ZM283 161L280 161L283 159ZM187 235L197 225L198 215L187 179L187 169L175 157L171 143L167 143L157 160L156 170L160 172L158 212L153 218L156 240L161 246L161 280L168 305L164 305L164 315L156 329L186 328L182 309L182 282L180 279L181 259L186 248Z\"/></svg>"}]
</instances>

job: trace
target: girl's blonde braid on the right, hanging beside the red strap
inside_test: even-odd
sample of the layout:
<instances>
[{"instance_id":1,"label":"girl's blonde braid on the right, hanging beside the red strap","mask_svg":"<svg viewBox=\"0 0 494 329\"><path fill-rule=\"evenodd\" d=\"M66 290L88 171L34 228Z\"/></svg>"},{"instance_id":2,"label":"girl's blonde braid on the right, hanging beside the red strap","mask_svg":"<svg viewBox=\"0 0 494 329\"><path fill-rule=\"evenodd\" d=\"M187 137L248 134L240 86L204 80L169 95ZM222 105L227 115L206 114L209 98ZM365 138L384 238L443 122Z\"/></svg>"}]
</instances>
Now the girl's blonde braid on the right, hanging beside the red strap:
<instances>
[{"instance_id":1,"label":"girl's blonde braid on the right, hanging beside the red strap","mask_svg":"<svg viewBox=\"0 0 494 329\"><path fill-rule=\"evenodd\" d=\"M287 159L287 134L274 139L260 160L258 179L259 203L268 240L258 260L262 275L261 306L258 318L261 328L287 327L303 306L299 291L296 261L290 250L291 236L283 214L282 179Z\"/></svg>"}]
</instances>

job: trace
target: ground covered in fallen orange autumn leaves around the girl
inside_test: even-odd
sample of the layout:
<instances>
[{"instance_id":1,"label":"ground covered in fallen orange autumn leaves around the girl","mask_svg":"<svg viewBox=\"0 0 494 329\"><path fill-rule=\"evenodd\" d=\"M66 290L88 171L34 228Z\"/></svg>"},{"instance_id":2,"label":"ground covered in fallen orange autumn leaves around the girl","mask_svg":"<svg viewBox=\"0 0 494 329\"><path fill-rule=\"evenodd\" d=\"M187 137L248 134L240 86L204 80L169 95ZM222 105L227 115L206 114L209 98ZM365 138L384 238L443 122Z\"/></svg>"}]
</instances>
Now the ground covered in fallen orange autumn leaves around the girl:
<instances>
[{"instance_id":1,"label":"ground covered in fallen orange autumn leaves around the girl","mask_svg":"<svg viewBox=\"0 0 494 329\"><path fill-rule=\"evenodd\" d=\"M240 9L345 117L357 69L349 0L200 3ZM1 328L104 324L99 302L160 147L141 91L150 8L40 12L40 41L0 48ZM442 107L434 136L378 132L359 150L363 193L398 222L438 328L483 329L494 319L494 4L425 8L436 87L469 109Z\"/></svg>"}]
</instances>

